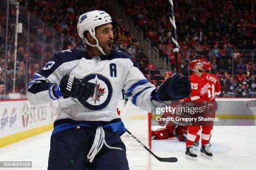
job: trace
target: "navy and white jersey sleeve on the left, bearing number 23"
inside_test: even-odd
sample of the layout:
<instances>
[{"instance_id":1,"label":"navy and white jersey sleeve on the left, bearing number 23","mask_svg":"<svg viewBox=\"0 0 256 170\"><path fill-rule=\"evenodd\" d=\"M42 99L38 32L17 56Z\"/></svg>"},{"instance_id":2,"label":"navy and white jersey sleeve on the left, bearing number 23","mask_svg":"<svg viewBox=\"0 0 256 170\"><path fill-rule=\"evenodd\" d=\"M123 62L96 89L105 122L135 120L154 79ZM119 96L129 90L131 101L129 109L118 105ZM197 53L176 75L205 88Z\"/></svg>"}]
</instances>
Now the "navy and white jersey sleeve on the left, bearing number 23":
<instances>
[{"instance_id":1,"label":"navy and white jersey sleeve on the left, bearing number 23","mask_svg":"<svg viewBox=\"0 0 256 170\"><path fill-rule=\"evenodd\" d=\"M42 105L56 100L53 85L59 84L61 78L76 67L82 57L81 54L81 50L65 50L55 54L53 59L28 83L28 101L32 105Z\"/></svg>"}]
</instances>

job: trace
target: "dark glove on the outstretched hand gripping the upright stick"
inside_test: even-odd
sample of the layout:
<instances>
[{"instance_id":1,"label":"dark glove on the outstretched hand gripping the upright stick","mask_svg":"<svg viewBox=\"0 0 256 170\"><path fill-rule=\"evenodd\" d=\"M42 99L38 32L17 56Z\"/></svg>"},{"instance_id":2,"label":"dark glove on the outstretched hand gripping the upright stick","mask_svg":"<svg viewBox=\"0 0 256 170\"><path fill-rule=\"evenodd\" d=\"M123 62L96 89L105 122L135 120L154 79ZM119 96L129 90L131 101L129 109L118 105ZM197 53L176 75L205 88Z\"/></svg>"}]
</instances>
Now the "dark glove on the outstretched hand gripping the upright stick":
<instances>
[{"instance_id":1,"label":"dark glove on the outstretched hand gripping the upright stick","mask_svg":"<svg viewBox=\"0 0 256 170\"><path fill-rule=\"evenodd\" d=\"M191 95L189 77L181 76L179 73L169 77L157 90L160 100L179 100Z\"/></svg>"}]
</instances>

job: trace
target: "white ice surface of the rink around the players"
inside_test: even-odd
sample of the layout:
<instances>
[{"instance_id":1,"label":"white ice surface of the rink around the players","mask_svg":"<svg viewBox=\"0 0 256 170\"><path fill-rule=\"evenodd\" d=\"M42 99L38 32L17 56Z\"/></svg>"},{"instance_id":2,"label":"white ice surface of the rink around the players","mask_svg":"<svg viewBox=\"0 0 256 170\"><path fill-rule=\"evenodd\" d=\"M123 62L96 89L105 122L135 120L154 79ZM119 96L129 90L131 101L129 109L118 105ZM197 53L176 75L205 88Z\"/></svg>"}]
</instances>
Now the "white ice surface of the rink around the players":
<instances>
[{"instance_id":1,"label":"white ice surface of the rink around the players","mask_svg":"<svg viewBox=\"0 0 256 170\"><path fill-rule=\"evenodd\" d=\"M33 168L1 170L47 170L51 131L0 148L0 161L32 161ZM144 148L128 149L130 170L256 170L256 126L215 126L211 138L212 160L195 151L196 161L184 158L185 143L175 139L152 140L159 157L177 157L177 163L162 163Z\"/></svg>"}]
</instances>

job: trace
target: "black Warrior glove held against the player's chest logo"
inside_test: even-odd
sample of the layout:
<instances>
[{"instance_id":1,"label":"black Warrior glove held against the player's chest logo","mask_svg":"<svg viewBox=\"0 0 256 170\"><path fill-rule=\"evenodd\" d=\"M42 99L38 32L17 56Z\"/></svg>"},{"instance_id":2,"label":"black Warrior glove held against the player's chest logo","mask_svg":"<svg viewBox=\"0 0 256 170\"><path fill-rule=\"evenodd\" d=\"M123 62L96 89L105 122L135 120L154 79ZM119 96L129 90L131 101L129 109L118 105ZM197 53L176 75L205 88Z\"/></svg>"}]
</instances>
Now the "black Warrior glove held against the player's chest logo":
<instances>
[{"instance_id":1,"label":"black Warrior glove held against the player's chest logo","mask_svg":"<svg viewBox=\"0 0 256 170\"><path fill-rule=\"evenodd\" d=\"M96 85L72 75L64 75L64 77L61 78L59 86L64 98L74 97L84 103L94 94Z\"/></svg>"}]
</instances>

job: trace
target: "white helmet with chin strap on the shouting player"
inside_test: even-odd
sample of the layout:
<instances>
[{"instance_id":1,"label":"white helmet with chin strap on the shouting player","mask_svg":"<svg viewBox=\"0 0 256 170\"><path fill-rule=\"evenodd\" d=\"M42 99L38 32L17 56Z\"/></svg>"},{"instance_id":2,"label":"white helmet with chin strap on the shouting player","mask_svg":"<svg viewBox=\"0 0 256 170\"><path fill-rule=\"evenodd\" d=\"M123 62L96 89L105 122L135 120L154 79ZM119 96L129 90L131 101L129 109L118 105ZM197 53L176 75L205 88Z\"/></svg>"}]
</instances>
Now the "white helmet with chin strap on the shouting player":
<instances>
[{"instance_id":1,"label":"white helmet with chin strap on the shouting player","mask_svg":"<svg viewBox=\"0 0 256 170\"><path fill-rule=\"evenodd\" d=\"M111 23L111 17L108 13L101 10L95 10L88 13L84 13L80 15L77 23L77 32L80 38L84 41L84 43L97 47L103 55L106 55L105 52L100 47L97 38L95 37L95 27L107 23ZM84 31L89 31L92 37L96 40L96 44L92 45L86 37L84 37Z\"/></svg>"}]
</instances>

